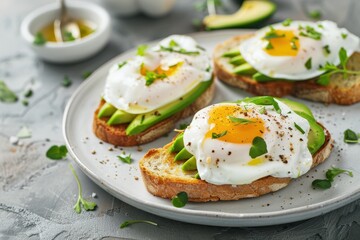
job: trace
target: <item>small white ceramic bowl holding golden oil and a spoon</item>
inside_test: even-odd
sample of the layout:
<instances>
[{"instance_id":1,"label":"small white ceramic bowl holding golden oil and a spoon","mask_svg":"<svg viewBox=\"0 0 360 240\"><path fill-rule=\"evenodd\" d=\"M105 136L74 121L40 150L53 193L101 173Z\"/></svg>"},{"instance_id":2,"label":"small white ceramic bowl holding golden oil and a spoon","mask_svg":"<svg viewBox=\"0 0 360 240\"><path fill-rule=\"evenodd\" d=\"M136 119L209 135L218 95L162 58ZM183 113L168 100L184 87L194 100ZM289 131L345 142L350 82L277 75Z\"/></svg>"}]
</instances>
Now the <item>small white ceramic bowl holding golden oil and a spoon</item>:
<instances>
[{"instance_id":1,"label":"small white ceramic bowl holding golden oil and a spoon","mask_svg":"<svg viewBox=\"0 0 360 240\"><path fill-rule=\"evenodd\" d=\"M42 59L54 63L76 62L88 58L101 50L110 38L109 14L100 6L88 2L68 2L68 13L76 19L89 20L96 25L88 36L71 42L46 42L33 44L41 28L53 22L60 15L58 3L45 5L27 15L21 23L22 37Z\"/></svg>"}]
</instances>

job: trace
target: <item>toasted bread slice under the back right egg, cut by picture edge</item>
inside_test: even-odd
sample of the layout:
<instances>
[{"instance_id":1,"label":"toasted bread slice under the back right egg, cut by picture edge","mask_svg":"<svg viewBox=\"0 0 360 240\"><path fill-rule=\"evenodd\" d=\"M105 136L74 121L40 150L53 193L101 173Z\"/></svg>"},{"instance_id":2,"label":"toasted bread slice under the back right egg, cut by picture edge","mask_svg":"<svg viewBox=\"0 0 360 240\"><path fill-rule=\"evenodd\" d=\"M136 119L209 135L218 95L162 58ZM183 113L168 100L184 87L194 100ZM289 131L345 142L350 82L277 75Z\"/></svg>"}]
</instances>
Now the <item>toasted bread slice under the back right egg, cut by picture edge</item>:
<instances>
[{"instance_id":1,"label":"toasted bread slice under the back right egg, cut by picture edge","mask_svg":"<svg viewBox=\"0 0 360 240\"><path fill-rule=\"evenodd\" d=\"M213 59L215 75L218 79L255 95L274 97L293 95L316 102L341 105L350 105L360 101L360 75L348 75L345 79L343 74L333 74L330 83L322 86L316 83L316 78L304 81L257 82L251 76L234 74L234 67L229 63L229 58L222 55L251 36L252 34L235 36L217 45ZM360 71L360 52L355 52L350 56L347 69Z\"/></svg>"}]
</instances>

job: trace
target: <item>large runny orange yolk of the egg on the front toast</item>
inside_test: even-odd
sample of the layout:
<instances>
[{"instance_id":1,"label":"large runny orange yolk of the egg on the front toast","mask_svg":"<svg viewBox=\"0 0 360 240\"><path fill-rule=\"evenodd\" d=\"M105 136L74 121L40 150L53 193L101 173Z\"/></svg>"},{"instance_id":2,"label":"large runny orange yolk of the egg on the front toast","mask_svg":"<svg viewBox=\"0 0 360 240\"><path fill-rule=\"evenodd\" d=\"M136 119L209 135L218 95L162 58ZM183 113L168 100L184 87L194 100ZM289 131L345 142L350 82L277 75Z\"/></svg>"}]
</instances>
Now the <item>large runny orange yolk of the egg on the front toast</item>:
<instances>
[{"instance_id":1,"label":"large runny orange yolk of the egg on the front toast","mask_svg":"<svg viewBox=\"0 0 360 240\"><path fill-rule=\"evenodd\" d=\"M243 117L239 116L239 111ZM254 111L254 110L249 110ZM264 121L261 118L247 117L250 112L239 106L218 106L210 110L208 123L211 128L205 138L214 138L220 141L251 144L255 137L262 137L265 132Z\"/></svg>"}]
</instances>

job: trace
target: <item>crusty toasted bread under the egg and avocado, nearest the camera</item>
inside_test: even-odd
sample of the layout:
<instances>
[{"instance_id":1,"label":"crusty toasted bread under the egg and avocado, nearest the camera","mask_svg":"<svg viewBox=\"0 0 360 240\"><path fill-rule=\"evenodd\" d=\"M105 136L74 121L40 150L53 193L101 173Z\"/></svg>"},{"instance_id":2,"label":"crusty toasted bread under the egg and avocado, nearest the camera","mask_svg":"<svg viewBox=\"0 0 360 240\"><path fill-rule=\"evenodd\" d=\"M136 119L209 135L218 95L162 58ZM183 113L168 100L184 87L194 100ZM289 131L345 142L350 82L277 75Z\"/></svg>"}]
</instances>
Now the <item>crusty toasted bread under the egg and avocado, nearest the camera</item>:
<instances>
[{"instance_id":1,"label":"crusty toasted bread under the egg and avocado, nearest the camera","mask_svg":"<svg viewBox=\"0 0 360 240\"><path fill-rule=\"evenodd\" d=\"M312 168L324 162L333 148L333 139L325 131L325 142L313 155ZM195 172L181 170L181 162L174 161L176 154L170 153L172 142L163 148L150 149L140 160L140 170L147 190L155 196L171 199L179 192L186 192L189 201L208 202L238 200L258 197L286 187L291 178L267 176L251 184L214 185L194 178Z\"/></svg>"}]
</instances>

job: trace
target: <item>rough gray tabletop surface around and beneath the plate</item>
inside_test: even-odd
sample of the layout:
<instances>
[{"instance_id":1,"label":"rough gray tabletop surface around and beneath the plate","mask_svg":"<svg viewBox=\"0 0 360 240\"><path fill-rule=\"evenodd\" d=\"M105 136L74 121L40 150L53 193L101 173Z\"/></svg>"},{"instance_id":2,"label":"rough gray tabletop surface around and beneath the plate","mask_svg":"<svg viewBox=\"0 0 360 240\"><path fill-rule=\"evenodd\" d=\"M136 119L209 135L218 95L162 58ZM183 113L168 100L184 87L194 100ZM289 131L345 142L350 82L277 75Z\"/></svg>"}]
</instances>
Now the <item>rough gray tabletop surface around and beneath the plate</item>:
<instances>
[{"instance_id":1,"label":"rough gray tabletop surface around and beneath the plate","mask_svg":"<svg viewBox=\"0 0 360 240\"><path fill-rule=\"evenodd\" d=\"M80 63L55 65L38 59L19 35L23 17L48 2L52 1L0 1L0 79L18 94L29 87L34 90L27 107L20 102L0 102L0 239L360 239L360 201L322 216L283 225L257 228L194 225L146 213L114 198L73 163L84 196L91 198L96 193L93 200L98 204L96 211L76 214L72 208L77 186L68 168L73 161L70 157L51 161L45 152L51 145L64 144L62 115L67 100L83 81L81 73L95 70L139 43L196 31L191 21L198 13L193 1L179 0L163 18L113 17L110 42L99 54ZM276 2L278 11L269 22L286 17L306 19L300 1ZM353 5L348 12L338 10L343 18L339 20L341 25L357 35L360 35L359 5ZM69 88L61 86L64 75L73 80ZM27 126L32 137L13 145L9 138L21 126ZM119 224L129 219L151 220L159 226L138 224L119 229Z\"/></svg>"}]
</instances>

